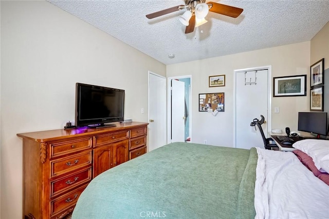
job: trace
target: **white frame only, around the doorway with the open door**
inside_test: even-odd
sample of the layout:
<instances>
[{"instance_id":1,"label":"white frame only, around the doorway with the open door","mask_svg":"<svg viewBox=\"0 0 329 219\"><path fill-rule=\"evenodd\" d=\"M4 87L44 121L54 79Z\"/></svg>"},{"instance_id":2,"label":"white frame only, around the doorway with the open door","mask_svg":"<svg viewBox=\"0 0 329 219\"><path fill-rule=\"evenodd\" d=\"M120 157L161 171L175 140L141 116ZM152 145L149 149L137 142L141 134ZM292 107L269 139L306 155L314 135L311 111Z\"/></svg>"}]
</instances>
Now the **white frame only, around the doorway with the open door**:
<instances>
[{"instance_id":1,"label":"white frame only, around the doorway with the open door","mask_svg":"<svg viewBox=\"0 0 329 219\"><path fill-rule=\"evenodd\" d=\"M190 78L190 88L192 88L192 75L175 76L167 78L167 144L171 143L171 80L180 78ZM189 104L189 129L190 138L192 138L192 89L190 89Z\"/></svg>"}]
</instances>

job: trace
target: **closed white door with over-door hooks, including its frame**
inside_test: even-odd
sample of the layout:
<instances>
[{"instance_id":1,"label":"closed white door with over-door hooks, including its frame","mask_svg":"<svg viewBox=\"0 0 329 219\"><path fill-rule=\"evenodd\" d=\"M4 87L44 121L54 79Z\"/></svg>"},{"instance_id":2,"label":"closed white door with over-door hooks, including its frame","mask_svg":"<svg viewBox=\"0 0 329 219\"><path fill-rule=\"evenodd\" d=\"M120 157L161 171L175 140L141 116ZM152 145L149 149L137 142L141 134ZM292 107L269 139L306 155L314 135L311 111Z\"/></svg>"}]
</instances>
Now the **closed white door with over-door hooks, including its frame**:
<instances>
[{"instance_id":1,"label":"closed white door with over-door hooks, including its frame","mask_svg":"<svg viewBox=\"0 0 329 219\"><path fill-rule=\"evenodd\" d=\"M234 133L236 148L264 147L259 130L250 126L254 118L265 117L265 136L271 127L271 66L234 70Z\"/></svg>"}]
</instances>

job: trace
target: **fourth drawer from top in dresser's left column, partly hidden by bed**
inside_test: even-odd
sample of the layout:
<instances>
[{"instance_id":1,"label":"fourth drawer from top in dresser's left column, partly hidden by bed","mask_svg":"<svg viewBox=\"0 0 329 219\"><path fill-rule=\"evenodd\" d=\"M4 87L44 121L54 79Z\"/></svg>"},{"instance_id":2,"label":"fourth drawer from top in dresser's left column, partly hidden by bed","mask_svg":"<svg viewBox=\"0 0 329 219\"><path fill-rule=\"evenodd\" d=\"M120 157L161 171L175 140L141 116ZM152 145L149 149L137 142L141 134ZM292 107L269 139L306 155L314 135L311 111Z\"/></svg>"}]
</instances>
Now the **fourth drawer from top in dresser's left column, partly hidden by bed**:
<instances>
[{"instance_id":1,"label":"fourth drawer from top in dresser's left column, partly hidden by bed","mask_svg":"<svg viewBox=\"0 0 329 219\"><path fill-rule=\"evenodd\" d=\"M70 207L74 206L78 198L80 197L83 190L87 187L84 185L83 187L76 189L68 193L67 195L61 196L57 199L50 201L50 217L56 218L56 214L62 213L69 209Z\"/></svg>"}]
</instances>

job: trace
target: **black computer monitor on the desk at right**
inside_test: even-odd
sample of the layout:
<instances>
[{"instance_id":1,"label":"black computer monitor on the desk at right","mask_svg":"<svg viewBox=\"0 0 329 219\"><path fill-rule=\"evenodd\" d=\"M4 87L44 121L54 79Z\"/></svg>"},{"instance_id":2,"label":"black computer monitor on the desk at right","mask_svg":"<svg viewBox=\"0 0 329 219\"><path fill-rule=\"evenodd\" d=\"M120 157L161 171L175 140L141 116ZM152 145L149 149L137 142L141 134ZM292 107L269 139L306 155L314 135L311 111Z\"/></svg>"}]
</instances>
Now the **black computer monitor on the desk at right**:
<instances>
[{"instance_id":1,"label":"black computer monitor on the desk at right","mask_svg":"<svg viewBox=\"0 0 329 219\"><path fill-rule=\"evenodd\" d=\"M327 135L327 112L299 112L298 130L320 135Z\"/></svg>"}]
</instances>

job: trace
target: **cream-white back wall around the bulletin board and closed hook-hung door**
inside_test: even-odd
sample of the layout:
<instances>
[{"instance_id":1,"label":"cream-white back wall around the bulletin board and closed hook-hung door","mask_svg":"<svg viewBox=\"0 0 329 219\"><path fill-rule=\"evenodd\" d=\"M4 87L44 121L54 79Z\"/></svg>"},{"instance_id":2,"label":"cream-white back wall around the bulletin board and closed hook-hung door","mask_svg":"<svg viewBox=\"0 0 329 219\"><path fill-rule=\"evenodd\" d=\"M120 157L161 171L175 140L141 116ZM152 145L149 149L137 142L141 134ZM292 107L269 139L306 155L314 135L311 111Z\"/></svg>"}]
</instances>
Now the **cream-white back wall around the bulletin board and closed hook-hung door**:
<instances>
[{"instance_id":1,"label":"cream-white back wall around the bulletin board and closed hook-hung door","mask_svg":"<svg viewBox=\"0 0 329 219\"><path fill-rule=\"evenodd\" d=\"M207 140L210 145L232 147L234 70L271 65L272 77L306 74L309 82L309 56L310 42L303 42L168 65L167 77L192 75L192 141L204 143ZM220 74L226 75L226 86L209 88L209 76ZM225 112L220 112L215 117L211 113L198 112L198 94L212 92L225 92ZM285 127L290 127L291 130L297 130L297 112L309 108L309 94L299 97L271 97L271 101L272 112L274 107L280 107L280 113L272 113L272 128L284 130Z\"/></svg>"}]
</instances>

